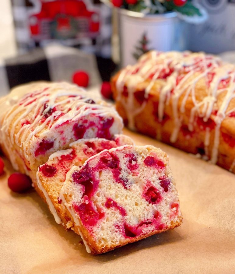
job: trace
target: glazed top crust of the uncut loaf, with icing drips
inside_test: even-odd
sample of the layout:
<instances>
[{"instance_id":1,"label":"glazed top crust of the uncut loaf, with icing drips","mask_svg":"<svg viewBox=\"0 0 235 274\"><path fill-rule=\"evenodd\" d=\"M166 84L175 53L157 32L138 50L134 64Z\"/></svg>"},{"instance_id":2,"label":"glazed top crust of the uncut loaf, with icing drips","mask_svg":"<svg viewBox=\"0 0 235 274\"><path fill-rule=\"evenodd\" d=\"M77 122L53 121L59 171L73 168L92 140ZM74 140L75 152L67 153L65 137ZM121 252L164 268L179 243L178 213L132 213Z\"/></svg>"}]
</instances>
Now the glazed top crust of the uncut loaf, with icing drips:
<instances>
[{"instance_id":1,"label":"glazed top crust of the uncut loaf, with icing drips","mask_svg":"<svg viewBox=\"0 0 235 274\"><path fill-rule=\"evenodd\" d=\"M220 131L235 139L235 67L219 57L202 52L150 51L112 79L114 97L125 109L128 126L148 98L158 101L157 116L174 119L171 142L177 140L182 124L193 131L198 121L215 130L211 161L216 163ZM199 120L198 120L199 119Z\"/></svg>"}]
</instances>

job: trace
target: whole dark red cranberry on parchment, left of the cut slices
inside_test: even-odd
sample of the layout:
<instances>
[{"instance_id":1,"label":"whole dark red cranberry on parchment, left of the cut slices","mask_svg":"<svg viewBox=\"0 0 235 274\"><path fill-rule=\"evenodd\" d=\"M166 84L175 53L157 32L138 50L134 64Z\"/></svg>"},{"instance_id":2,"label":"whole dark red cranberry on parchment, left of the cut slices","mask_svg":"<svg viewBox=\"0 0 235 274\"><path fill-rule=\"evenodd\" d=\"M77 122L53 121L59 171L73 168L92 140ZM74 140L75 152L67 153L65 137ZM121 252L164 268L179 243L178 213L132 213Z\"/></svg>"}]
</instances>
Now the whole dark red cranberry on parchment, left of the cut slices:
<instances>
[{"instance_id":1,"label":"whole dark red cranberry on parchment, left of the cut slices","mask_svg":"<svg viewBox=\"0 0 235 274\"><path fill-rule=\"evenodd\" d=\"M9 176L8 186L12 191L22 193L32 188L32 181L29 176L15 172Z\"/></svg>"}]
</instances>

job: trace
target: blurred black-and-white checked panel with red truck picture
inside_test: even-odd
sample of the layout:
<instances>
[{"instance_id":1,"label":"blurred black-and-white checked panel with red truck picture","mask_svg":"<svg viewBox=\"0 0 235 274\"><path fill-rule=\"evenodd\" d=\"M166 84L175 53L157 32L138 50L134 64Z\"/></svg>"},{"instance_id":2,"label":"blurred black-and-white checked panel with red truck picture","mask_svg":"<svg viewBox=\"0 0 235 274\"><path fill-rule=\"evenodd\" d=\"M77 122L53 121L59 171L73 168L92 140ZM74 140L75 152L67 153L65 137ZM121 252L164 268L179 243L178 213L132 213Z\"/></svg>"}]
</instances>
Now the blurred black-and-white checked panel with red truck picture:
<instances>
[{"instance_id":1,"label":"blurred black-and-white checked panel with red truck picture","mask_svg":"<svg viewBox=\"0 0 235 274\"><path fill-rule=\"evenodd\" d=\"M99 0L12 0L19 53L51 42L109 58L111 10Z\"/></svg>"}]
</instances>

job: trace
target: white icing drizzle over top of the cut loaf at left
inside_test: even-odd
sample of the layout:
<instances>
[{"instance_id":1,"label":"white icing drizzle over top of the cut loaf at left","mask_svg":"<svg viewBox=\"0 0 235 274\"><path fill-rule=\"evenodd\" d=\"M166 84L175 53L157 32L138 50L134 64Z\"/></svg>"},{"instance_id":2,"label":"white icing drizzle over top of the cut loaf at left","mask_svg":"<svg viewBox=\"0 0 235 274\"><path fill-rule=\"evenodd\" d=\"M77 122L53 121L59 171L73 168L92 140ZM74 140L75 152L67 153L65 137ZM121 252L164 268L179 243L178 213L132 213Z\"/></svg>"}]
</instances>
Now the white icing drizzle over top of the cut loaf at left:
<instances>
[{"instance_id":1,"label":"white icing drizzle over top of the cut loaf at left","mask_svg":"<svg viewBox=\"0 0 235 274\"><path fill-rule=\"evenodd\" d=\"M19 94L16 96L17 92ZM89 99L95 100L96 104L87 104L85 101ZM39 132L40 138L43 139L61 124L67 121L77 121L89 114L114 117L115 125L113 124L110 130L115 128L117 123L122 125L122 119L114 108L100 100L99 96L68 83L35 83L21 86L4 97L4 101L0 100L0 106L6 109L1 117L1 143L7 150L16 170L18 170L18 165L16 153L12 153L13 146L23 148L23 153L20 151L17 153L27 161L29 144L35 141L37 138L35 135ZM56 111L44 116L55 107ZM15 119L17 115L19 117ZM15 132L17 127L19 130ZM10 132L9 128L11 128ZM25 173L28 174L26 167Z\"/></svg>"}]
</instances>

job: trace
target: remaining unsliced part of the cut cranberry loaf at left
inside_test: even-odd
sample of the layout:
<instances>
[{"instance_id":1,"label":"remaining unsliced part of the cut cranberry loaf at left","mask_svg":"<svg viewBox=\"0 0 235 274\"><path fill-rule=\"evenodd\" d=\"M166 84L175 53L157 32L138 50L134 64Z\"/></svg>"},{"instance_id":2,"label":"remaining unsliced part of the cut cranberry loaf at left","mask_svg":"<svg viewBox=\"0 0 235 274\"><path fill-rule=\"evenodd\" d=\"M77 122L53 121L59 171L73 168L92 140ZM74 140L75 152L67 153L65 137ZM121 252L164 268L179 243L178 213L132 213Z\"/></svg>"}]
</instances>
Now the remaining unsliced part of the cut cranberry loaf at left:
<instances>
[{"instance_id":1,"label":"remaining unsliced part of the cut cranberry loaf at left","mask_svg":"<svg viewBox=\"0 0 235 274\"><path fill-rule=\"evenodd\" d=\"M68 148L71 142L110 139L123 128L110 105L75 85L34 83L19 87L13 95L0 102L5 106L0 142L13 167L32 176L52 153Z\"/></svg>"}]
</instances>

